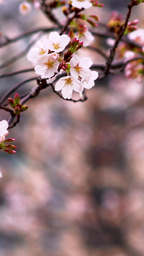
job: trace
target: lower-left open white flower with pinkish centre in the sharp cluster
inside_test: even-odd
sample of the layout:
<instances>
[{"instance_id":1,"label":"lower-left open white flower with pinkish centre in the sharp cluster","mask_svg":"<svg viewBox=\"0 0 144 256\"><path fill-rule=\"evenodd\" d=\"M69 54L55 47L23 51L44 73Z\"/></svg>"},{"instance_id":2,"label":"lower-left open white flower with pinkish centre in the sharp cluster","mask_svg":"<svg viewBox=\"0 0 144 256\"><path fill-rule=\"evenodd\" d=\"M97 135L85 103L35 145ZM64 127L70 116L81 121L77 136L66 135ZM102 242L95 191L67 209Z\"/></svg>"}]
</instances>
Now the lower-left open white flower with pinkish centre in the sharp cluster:
<instances>
[{"instance_id":1,"label":"lower-left open white flower with pinkish centre in the sharp cluster","mask_svg":"<svg viewBox=\"0 0 144 256\"><path fill-rule=\"evenodd\" d=\"M41 75L42 79L49 79L55 75L59 67L59 55L52 53L49 55L42 55L37 59L35 72Z\"/></svg>"}]
</instances>

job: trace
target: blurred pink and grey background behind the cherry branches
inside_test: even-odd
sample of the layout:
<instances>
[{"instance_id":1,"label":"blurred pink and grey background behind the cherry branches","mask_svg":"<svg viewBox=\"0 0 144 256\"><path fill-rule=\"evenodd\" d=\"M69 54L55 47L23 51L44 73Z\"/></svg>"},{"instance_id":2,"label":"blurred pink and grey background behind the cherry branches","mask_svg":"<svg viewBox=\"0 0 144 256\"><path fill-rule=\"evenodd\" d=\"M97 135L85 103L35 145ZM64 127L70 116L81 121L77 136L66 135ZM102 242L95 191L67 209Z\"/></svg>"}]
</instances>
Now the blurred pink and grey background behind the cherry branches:
<instances>
[{"instance_id":1,"label":"blurred pink and grey background behind the cherry branches","mask_svg":"<svg viewBox=\"0 0 144 256\"><path fill-rule=\"evenodd\" d=\"M21 2L0 5L1 33L14 38L51 26L38 9L20 15ZM101 22L114 9L124 15L129 2L103 1L105 8L96 9ZM143 5L131 18L139 18L140 27ZM29 42L24 38L1 49L0 65ZM95 44L106 46L100 38ZM79 54L104 61L88 49ZM24 56L0 74L28 67L32 63ZM1 79L1 96L34 75ZM20 124L9 131L17 154L0 153L0 256L144 255L143 92L143 84L117 74L87 90L84 103L63 101L50 88L28 102ZM0 119L8 119L2 110Z\"/></svg>"}]
</instances>

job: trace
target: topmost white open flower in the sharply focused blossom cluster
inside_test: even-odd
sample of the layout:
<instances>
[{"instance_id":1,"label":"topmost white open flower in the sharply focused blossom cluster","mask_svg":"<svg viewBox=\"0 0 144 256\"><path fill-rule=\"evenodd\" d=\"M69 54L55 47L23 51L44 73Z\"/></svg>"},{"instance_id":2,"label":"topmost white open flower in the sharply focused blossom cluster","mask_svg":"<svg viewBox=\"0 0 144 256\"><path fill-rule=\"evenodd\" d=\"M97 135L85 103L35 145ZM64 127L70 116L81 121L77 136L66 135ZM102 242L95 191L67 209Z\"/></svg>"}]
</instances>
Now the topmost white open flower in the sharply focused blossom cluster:
<instances>
[{"instance_id":1,"label":"topmost white open flower in the sharply focused blossom cluster","mask_svg":"<svg viewBox=\"0 0 144 256\"><path fill-rule=\"evenodd\" d=\"M67 35L60 36L58 32L50 32L47 42L48 48L55 52L60 52L69 44L70 38Z\"/></svg>"}]
</instances>

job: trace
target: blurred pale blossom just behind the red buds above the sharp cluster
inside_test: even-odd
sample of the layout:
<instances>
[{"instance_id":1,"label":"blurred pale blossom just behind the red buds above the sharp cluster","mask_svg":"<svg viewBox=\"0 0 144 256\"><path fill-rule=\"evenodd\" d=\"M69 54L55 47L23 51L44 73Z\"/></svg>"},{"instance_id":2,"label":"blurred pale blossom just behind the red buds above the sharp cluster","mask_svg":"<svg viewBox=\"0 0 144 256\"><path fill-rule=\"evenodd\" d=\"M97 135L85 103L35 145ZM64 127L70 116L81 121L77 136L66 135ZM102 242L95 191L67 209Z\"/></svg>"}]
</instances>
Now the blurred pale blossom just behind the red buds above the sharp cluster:
<instances>
[{"instance_id":1,"label":"blurred pale blossom just behind the red buds above the sharp cluster","mask_svg":"<svg viewBox=\"0 0 144 256\"><path fill-rule=\"evenodd\" d=\"M76 33L76 38L78 38L80 42L83 42L84 47L89 46L89 44L94 41L92 33L88 30L86 30L85 32Z\"/></svg>"}]
</instances>

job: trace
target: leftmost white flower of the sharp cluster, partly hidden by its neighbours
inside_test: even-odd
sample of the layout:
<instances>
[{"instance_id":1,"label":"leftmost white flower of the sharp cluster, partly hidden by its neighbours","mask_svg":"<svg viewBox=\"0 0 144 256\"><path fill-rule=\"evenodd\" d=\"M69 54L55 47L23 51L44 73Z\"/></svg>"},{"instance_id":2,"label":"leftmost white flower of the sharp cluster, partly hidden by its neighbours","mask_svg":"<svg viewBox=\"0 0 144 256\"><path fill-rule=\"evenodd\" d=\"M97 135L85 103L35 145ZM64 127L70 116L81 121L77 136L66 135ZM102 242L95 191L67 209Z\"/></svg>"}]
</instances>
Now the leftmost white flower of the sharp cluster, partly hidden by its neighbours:
<instances>
[{"instance_id":1,"label":"leftmost white flower of the sharp cluster, partly hidden by its neighbours","mask_svg":"<svg viewBox=\"0 0 144 256\"><path fill-rule=\"evenodd\" d=\"M27 54L27 59L34 63L37 63L38 57L48 54L48 39L43 39L41 41L37 41L37 46L30 49Z\"/></svg>"}]
</instances>

